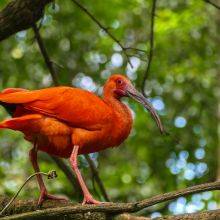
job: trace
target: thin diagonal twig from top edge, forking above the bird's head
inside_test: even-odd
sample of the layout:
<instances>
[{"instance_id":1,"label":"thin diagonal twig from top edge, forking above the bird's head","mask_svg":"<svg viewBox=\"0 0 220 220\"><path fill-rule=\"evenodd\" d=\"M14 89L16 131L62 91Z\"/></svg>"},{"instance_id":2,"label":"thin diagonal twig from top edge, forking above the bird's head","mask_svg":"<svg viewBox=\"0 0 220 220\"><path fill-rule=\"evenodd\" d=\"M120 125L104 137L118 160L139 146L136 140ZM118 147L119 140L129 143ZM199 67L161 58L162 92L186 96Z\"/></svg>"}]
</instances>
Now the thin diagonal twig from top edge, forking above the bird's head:
<instances>
[{"instance_id":1,"label":"thin diagonal twig from top edge, forking above the bird's head","mask_svg":"<svg viewBox=\"0 0 220 220\"><path fill-rule=\"evenodd\" d=\"M128 50L135 50L135 51L139 51L139 52L143 52L146 53L145 50L142 49L138 49L138 48L134 48L134 47L125 47L121 41L116 38L110 31L109 28L105 27L87 8L85 8L82 4L79 3L78 0L72 0L72 2L77 5L83 12L85 12L100 28L101 30L103 30L114 42L116 42L123 54L125 55L127 62L129 63L129 65L133 68L133 65L130 61L130 55L127 53Z\"/></svg>"}]
</instances>

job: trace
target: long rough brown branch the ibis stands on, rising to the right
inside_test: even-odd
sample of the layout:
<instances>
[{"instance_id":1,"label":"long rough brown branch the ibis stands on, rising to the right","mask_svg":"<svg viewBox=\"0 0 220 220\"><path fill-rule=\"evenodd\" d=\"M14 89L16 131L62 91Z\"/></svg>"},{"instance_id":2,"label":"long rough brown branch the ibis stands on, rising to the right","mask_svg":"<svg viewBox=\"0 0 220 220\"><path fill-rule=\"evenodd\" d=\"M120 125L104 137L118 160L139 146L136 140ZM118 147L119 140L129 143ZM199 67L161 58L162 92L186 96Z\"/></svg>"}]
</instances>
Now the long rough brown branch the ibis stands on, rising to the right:
<instances>
[{"instance_id":1,"label":"long rough brown branch the ibis stands on, rising to the right","mask_svg":"<svg viewBox=\"0 0 220 220\"><path fill-rule=\"evenodd\" d=\"M42 216L49 218L55 216L56 217L69 216L69 215L81 214L81 213L91 214L91 213L101 212L101 213L105 213L106 215L109 213L110 214L119 214L124 212L132 213L153 206L155 204L176 199L181 196L187 196L194 193L200 193L200 192L212 191L212 190L220 190L220 181L188 187L186 189L169 192L162 195L157 195L150 199L145 199L133 203L104 203L101 205L76 205L73 203L62 204L60 202L53 201L52 203L51 201L49 201L49 202L45 202L41 210L37 210L37 212L34 212L36 210L37 201L34 200L30 200L28 202L17 201L14 204L14 206L10 207L5 214L7 213L16 214L23 212L23 214L10 216L10 219L30 219L30 218L37 219ZM6 203L5 199L2 201L0 199L0 206L2 206L3 203L4 204ZM23 206L27 207L26 213L24 213L25 210L22 209Z\"/></svg>"}]
</instances>

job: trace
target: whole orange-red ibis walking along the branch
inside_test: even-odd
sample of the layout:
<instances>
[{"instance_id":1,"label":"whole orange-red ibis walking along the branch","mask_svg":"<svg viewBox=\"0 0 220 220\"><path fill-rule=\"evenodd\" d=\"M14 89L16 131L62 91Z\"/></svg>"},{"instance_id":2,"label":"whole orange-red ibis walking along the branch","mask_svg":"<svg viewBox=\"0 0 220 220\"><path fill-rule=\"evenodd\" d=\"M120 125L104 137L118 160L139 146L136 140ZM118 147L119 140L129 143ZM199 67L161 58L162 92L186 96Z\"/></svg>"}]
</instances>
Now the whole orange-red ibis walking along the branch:
<instances>
[{"instance_id":1,"label":"whole orange-red ibis walking along the branch","mask_svg":"<svg viewBox=\"0 0 220 220\"><path fill-rule=\"evenodd\" d=\"M108 79L103 98L83 89L62 86L34 91L5 89L0 93L0 104L12 118L1 122L0 128L21 131L25 139L33 143L29 155L35 172L39 172L38 150L69 158L83 191L83 204L99 204L84 183L77 156L118 146L128 137L132 115L121 102L122 97L131 97L142 104L156 120L161 133L164 132L151 104L122 75L112 75ZM40 175L37 180L39 205L45 199L61 199L48 194Z\"/></svg>"}]
</instances>

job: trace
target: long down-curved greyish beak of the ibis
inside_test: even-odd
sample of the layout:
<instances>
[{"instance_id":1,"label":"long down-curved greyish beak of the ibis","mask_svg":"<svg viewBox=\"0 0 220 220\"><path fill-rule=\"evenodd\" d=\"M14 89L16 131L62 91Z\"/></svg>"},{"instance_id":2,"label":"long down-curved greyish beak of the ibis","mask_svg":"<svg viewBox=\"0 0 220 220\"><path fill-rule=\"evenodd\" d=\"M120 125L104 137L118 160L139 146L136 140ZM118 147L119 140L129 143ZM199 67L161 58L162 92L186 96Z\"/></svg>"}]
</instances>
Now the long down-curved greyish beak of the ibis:
<instances>
[{"instance_id":1,"label":"long down-curved greyish beak of the ibis","mask_svg":"<svg viewBox=\"0 0 220 220\"><path fill-rule=\"evenodd\" d=\"M163 124L161 123L161 120L160 120L156 110L153 108L153 106L150 104L150 102L140 92L138 92L134 88L133 85L127 86L126 95L133 98L134 100L136 100L140 104L142 104L144 106L144 108L146 108L150 112L152 118L156 121L157 126L160 129L161 134L165 134Z\"/></svg>"}]
</instances>

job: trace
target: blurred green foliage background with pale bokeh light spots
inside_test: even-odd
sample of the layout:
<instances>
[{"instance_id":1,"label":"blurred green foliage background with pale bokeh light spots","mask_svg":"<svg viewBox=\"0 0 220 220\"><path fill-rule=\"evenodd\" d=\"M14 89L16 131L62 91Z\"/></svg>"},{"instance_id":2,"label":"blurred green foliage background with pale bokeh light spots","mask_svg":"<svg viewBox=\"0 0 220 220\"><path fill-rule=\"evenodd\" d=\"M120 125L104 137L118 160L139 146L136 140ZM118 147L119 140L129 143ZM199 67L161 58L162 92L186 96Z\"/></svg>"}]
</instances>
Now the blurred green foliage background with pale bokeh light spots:
<instances>
[{"instance_id":1,"label":"blurred green foliage background with pale bokeh light spots","mask_svg":"<svg viewBox=\"0 0 220 220\"><path fill-rule=\"evenodd\" d=\"M8 0L0 1L0 9ZM81 1L125 46L149 52L151 1ZM127 75L141 90L147 54L129 51L133 68L121 48L72 1L57 0L46 7L41 35L56 64L60 84L98 95L112 73ZM161 136L149 114L124 99L133 113L134 127L119 148L90 155L109 197L129 202L220 179L220 13L205 1L160 0L155 15L155 50L145 84L170 136ZM32 30L0 43L0 90L39 89L53 85ZM0 107L0 119L9 117ZM19 132L0 131L0 195L12 196L33 173L28 159L31 144ZM39 154L42 171L57 170L45 180L48 190L81 201L56 164ZM67 161L68 162L68 161ZM80 168L92 193L103 200L83 156ZM31 192L31 193L30 193ZM32 180L19 198L37 198ZM181 197L142 211L161 214L192 213L220 207L217 192Z\"/></svg>"}]
</instances>

